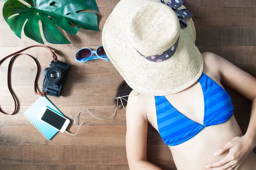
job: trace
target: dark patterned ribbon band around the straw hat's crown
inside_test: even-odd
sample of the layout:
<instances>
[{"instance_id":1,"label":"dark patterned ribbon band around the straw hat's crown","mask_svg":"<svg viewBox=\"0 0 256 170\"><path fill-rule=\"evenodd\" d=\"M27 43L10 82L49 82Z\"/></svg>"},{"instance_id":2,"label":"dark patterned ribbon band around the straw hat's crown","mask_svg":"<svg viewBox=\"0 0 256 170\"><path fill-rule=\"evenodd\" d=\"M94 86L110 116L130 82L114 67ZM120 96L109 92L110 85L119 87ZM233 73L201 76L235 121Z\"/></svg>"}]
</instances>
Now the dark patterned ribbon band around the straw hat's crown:
<instances>
[{"instance_id":1,"label":"dark patterned ribbon band around the straw hat's crown","mask_svg":"<svg viewBox=\"0 0 256 170\"><path fill-rule=\"evenodd\" d=\"M178 38L178 40L175 42L174 45L172 45L171 48L169 48L167 51L164 51L163 53L161 54L158 54L158 55L154 55L154 56L143 56L139 51L138 53L144 57L145 59L149 60L149 61L153 61L153 62L161 62L161 61L164 61L166 59L169 59L170 57L172 57L172 55L175 53L177 47L178 47L178 43L179 43L179 39L180 37Z\"/></svg>"}]
</instances>

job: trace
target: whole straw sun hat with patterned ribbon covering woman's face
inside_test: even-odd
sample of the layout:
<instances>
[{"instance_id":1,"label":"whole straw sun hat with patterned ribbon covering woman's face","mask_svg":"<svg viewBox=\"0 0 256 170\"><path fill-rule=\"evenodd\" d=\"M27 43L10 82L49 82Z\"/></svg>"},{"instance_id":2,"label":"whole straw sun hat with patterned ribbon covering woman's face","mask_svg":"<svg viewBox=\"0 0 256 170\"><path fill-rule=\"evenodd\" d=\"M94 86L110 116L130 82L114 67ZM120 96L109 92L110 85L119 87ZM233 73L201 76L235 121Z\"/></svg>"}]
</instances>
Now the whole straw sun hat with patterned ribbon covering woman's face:
<instances>
[{"instance_id":1,"label":"whole straw sun hat with patterned ribbon covering woman's face","mask_svg":"<svg viewBox=\"0 0 256 170\"><path fill-rule=\"evenodd\" d=\"M127 84L152 96L183 91L203 71L195 26L181 5L184 0L171 0L168 5L160 1L120 0L102 31L105 52Z\"/></svg>"}]
</instances>

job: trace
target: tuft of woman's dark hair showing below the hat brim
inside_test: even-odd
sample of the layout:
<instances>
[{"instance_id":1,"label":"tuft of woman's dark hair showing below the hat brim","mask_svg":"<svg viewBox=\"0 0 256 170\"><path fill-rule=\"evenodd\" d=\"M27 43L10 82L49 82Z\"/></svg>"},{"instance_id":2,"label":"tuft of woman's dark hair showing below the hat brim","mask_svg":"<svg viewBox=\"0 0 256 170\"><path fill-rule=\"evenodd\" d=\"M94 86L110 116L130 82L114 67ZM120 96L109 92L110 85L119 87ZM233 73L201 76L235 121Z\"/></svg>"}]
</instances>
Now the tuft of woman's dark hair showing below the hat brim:
<instances>
[{"instance_id":1,"label":"tuft of woman's dark hair showing below the hat brim","mask_svg":"<svg viewBox=\"0 0 256 170\"><path fill-rule=\"evenodd\" d=\"M128 95L131 93L132 88L124 81L122 81L116 91L116 97L122 97L122 96L127 96L124 97L123 99L128 100ZM115 104L117 104L117 99L114 99ZM122 100L122 103L124 105L124 107L127 105L127 102L125 100ZM120 102L120 100L118 101L118 107L120 107L120 109L122 108L122 103Z\"/></svg>"}]
</instances>

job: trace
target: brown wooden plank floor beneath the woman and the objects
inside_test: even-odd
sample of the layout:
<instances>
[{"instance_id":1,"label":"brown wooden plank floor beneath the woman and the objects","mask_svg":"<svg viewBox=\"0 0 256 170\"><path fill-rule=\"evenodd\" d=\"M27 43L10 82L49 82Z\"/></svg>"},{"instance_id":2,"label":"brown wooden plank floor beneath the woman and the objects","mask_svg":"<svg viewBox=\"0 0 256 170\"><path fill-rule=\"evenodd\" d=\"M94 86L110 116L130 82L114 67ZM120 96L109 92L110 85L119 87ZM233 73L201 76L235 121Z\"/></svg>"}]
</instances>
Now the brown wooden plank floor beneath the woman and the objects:
<instances>
[{"instance_id":1,"label":"brown wooden plank floor beneath the woman and the objects","mask_svg":"<svg viewBox=\"0 0 256 170\"><path fill-rule=\"evenodd\" d=\"M99 6L99 28L119 0L96 0ZM186 7L194 14L197 30L196 45L201 52L214 52L243 70L256 76L256 2L255 0L186 0ZM0 2L2 11L3 2ZM37 42L12 33L0 14L0 59L8 54L36 45ZM82 109L95 116L107 118L113 114L113 97L122 77L111 62L103 60L75 62L74 55L82 47L96 49L102 45L102 32L80 30L77 35L64 33L69 45L46 43L61 61L71 65L67 82L60 98L49 99L69 118L74 119ZM41 64L41 73L49 66L51 57L45 49L28 51ZM12 97L6 86L8 62L0 66L0 105L13 110ZM99 121L89 114L81 114L85 122L78 136L58 133L52 140L45 139L23 116L38 96L33 94L35 63L28 57L16 59L12 69L12 87L18 102L18 113L0 114L0 170L128 170L125 153L125 111L118 111L113 119ZM39 88L43 81L39 78ZM250 101L227 88L237 122L243 132L250 118ZM156 130L148 127L148 160L163 170L175 170L172 155ZM78 127L70 126L76 132Z\"/></svg>"}]
</instances>

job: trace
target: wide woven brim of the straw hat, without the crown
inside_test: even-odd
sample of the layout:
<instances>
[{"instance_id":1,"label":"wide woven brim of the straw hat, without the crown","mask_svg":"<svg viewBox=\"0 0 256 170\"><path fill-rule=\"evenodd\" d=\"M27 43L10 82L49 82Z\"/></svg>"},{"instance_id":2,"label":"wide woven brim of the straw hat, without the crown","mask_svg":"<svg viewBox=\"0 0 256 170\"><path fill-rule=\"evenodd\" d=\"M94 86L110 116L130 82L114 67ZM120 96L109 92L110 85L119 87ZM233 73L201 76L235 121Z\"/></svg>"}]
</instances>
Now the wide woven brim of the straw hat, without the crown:
<instances>
[{"instance_id":1,"label":"wide woven brim of the straw hat, without the crown","mask_svg":"<svg viewBox=\"0 0 256 170\"><path fill-rule=\"evenodd\" d=\"M169 59L152 62L137 52L126 34L127 20L133 8L149 1L158 0L121 0L105 23L102 43L108 58L131 88L146 95L167 96L197 82L204 62L195 46L191 18L186 19L187 28L180 29L179 44Z\"/></svg>"}]
</instances>

